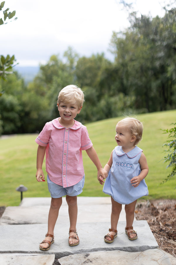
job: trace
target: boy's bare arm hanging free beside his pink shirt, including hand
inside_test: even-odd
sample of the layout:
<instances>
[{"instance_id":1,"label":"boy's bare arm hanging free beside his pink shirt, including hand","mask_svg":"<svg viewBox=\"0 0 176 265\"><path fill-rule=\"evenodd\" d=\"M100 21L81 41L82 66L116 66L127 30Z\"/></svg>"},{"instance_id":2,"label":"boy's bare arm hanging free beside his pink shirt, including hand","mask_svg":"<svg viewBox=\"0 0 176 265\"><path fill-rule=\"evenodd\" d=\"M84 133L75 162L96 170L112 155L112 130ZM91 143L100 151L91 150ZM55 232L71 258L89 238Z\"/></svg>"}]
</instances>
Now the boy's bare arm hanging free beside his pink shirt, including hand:
<instances>
[{"instance_id":1,"label":"boy's bare arm hanging free beside his pink shirt, including hand","mask_svg":"<svg viewBox=\"0 0 176 265\"><path fill-rule=\"evenodd\" d=\"M45 151L46 151L46 146L38 146L37 149L37 172L36 172L36 179L37 181L43 181L45 179L43 170L42 170L42 165L43 165L43 159L45 157ZM42 180L43 179L43 180Z\"/></svg>"}]
</instances>

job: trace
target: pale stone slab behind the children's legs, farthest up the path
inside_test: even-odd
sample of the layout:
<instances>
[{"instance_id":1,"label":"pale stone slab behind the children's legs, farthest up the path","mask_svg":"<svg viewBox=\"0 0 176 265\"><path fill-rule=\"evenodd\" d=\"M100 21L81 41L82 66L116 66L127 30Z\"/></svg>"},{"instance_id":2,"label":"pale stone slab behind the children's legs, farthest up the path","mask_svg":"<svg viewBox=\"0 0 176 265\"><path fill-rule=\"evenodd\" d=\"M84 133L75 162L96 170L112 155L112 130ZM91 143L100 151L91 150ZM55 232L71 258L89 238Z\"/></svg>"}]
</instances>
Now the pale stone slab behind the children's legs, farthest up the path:
<instances>
[{"instance_id":1,"label":"pale stone slab behind the children's legs, farthest up the path","mask_svg":"<svg viewBox=\"0 0 176 265\"><path fill-rule=\"evenodd\" d=\"M9 206L5 209L0 225L15 224L44 224L48 222L50 209L50 197L23 198L20 206ZM111 218L111 198L109 197L77 197L79 223L109 222ZM124 205L119 221L125 221ZM136 220L136 219L135 219ZM68 205L65 197L62 197L62 206L59 210L58 223L69 224Z\"/></svg>"}]
</instances>

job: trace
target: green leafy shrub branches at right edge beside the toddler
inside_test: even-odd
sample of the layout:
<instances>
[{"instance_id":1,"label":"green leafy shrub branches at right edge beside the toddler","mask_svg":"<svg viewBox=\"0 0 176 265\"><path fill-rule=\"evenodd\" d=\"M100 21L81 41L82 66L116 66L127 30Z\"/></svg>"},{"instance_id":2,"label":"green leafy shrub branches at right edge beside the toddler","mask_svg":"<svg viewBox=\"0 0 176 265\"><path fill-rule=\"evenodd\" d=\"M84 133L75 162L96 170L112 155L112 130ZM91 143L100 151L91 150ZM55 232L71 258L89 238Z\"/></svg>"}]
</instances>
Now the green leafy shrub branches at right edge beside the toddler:
<instances>
[{"instance_id":1,"label":"green leafy shrub branches at right edge beside the toddler","mask_svg":"<svg viewBox=\"0 0 176 265\"><path fill-rule=\"evenodd\" d=\"M170 140L167 140L167 143L163 145L168 148L167 150L165 150L165 152L167 152L167 155L163 159L164 163L169 163L167 165L167 168L171 167L172 171L167 176L167 178L165 178L165 181L163 181L163 183L167 182L176 175L176 123L172 123L171 125L175 125L175 127L163 130L164 133L169 134L168 138L171 138Z\"/></svg>"}]
</instances>

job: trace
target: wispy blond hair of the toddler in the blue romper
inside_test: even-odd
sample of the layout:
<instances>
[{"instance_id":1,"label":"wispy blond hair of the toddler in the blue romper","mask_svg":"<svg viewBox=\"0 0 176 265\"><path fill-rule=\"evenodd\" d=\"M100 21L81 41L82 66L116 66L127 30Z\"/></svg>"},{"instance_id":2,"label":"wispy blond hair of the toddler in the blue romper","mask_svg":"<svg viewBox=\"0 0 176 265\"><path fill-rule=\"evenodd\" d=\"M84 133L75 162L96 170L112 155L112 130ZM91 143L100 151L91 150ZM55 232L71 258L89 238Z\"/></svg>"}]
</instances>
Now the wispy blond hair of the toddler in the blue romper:
<instances>
[{"instance_id":1,"label":"wispy blond hair of the toddler in the blue romper","mask_svg":"<svg viewBox=\"0 0 176 265\"><path fill-rule=\"evenodd\" d=\"M143 124L139 120L132 117L126 117L123 120L120 120L117 124L125 126L131 135L136 136L134 145L137 145L142 140Z\"/></svg>"}]
</instances>

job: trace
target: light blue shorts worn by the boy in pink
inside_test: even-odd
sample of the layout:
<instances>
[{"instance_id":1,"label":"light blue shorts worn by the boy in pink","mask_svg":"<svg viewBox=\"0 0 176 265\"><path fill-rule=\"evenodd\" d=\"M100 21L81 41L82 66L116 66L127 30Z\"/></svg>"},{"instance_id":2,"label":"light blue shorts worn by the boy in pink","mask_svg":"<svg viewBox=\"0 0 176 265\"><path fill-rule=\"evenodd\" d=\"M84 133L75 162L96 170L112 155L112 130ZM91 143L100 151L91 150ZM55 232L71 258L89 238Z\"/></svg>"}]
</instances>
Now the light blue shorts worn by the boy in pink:
<instances>
[{"instance_id":1,"label":"light blue shorts worn by the boy in pink","mask_svg":"<svg viewBox=\"0 0 176 265\"><path fill-rule=\"evenodd\" d=\"M84 187L84 180L85 175L77 184L63 188L60 185L55 184L52 182L47 175L47 182L48 182L48 191L51 194L52 198L60 198L62 196L68 195L68 196L77 196L82 193L82 188Z\"/></svg>"}]
</instances>

